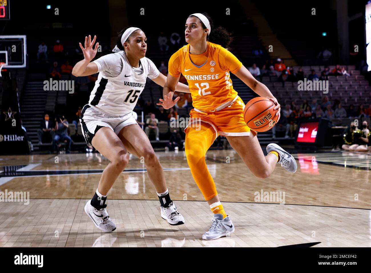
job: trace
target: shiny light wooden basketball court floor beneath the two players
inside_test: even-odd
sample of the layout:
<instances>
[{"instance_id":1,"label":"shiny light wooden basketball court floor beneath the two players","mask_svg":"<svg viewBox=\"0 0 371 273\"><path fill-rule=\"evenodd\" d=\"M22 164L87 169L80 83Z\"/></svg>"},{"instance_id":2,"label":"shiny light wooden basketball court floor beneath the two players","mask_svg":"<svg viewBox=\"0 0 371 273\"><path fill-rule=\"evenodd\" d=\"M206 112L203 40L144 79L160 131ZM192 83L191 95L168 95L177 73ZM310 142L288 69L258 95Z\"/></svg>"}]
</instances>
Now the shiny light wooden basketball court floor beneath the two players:
<instances>
[{"instance_id":1,"label":"shiny light wooden basketball court floor beneath the two players","mask_svg":"<svg viewBox=\"0 0 371 273\"><path fill-rule=\"evenodd\" d=\"M213 241L201 239L213 216L184 152L156 154L185 224L161 218L145 167L131 157L108 194L112 233L83 210L108 164L99 153L2 157L0 194L29 192L29 200L0 203L0 247L371 246L370 154L293 153L295 174L277 165L263 180L233 150L209 151L207 165L236 227Z\"/></svg>"}]
</instances>

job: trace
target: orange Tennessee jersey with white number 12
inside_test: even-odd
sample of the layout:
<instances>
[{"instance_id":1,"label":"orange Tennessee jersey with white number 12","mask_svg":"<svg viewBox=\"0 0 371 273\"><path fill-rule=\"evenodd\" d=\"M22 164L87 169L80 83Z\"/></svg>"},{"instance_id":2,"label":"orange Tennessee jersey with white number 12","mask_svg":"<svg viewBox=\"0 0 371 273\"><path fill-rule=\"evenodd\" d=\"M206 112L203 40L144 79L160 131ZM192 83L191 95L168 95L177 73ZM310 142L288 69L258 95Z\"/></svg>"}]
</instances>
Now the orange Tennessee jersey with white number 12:
<instances>
[{"instance_id":1,"label":"orange Tennessee jersey with white number 12","mask_svg":"<svg viewBox=\"0 0 371 273\"><path fill-rule=\"evenodd\" d=\"M183 46L171 56L168 71L177 78L180 73L188 82L192 105L202 111L214 111L218 106L237 96L229 72L237 72L242 63L220 45L207 42L202 54L189 53L190 45Z\"/></svg>"}]
</instances>

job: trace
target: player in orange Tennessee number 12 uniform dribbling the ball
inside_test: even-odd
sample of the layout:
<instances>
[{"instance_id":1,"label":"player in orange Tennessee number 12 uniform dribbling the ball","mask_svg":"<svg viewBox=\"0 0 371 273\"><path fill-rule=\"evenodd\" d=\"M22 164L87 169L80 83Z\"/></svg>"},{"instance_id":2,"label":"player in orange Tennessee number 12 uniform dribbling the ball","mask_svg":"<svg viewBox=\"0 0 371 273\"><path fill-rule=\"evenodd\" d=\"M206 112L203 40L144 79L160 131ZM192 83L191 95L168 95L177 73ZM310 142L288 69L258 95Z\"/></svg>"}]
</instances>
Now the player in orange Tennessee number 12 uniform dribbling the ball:
<instances>
[{"instance_id":1,"label":"player in orange Tennessee number 12 uniform dribbling the ball","mask_svg":"<svg viewBox=\"0 0 371 273\"><path fill-rule=\"evenodd\" d=\"M213 31L212 31L213 30ZM209 42L209 36L215 43ZM185 41L182 47L171 56L167 82L164 86L164 99L157 105L165 109L178 100L172 99L180 74L187 79L193 107L190 111L190 124L185 128L185 154L192 176L204 198L214 213L214 222L209 231L203 234L204 240L218 239L234 231L232 220L221 205L216 186L207 170L205 155L218 135L224 135L230 145L243 159L246 166L258 178L267 178L280 163L289 172L295 172L295 159L277 144L267 146L267 155L243 118L244 103L233 89L229 73L240 78L258 95L269 98L278 109L280 105L269 89L258 82L242 63L225 47L232 38L227 30L218 27L206 13L191 14L185 23ZM194 126L199 122L201 126Z\"/></svg>"}]
</instances>

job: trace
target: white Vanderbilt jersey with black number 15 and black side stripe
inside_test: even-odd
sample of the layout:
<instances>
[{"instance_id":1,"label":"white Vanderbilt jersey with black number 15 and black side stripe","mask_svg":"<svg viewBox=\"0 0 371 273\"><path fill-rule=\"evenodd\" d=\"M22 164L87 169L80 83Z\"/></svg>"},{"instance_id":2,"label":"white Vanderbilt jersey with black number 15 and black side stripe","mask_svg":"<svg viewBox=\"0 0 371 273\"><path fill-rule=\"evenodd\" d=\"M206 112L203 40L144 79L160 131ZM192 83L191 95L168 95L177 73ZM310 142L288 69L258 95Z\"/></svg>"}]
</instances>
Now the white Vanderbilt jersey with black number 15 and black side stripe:
<instances>
[{"instance_id":1,"label":"white Vanderbilt jersey with black number 15 and black side stripe","mask_svg":"<svg viewBox=\"0 0 371 273\"><path fill-rule=\"evenodd\" d=\"M147 76L153 79L160 74L146 57L139 60L139 68L133 68L124 51L102 56L93 62L98 66L99 75L90 94L89 105L111 116L132 112Z\"/></svg>"}]
</instances>

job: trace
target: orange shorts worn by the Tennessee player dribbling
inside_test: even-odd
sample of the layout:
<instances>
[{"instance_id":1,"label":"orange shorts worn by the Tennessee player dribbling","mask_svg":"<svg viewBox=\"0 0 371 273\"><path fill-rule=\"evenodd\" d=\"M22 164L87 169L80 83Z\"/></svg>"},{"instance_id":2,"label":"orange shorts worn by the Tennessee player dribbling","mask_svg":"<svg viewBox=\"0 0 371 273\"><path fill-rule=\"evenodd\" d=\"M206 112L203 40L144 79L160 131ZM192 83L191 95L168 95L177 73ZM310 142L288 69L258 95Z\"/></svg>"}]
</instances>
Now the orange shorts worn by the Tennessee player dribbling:
<instances>
[{"instance_id":1,"label":"orange shorts worn by the Tennessee player dribbling","mask_svg":"<svg viewBox=\"0 0 371 273\"><path fill-rule=\"evenodd\" d=\"M231 137L245 136L250 135L250 131L256 134L244 121L244 108L245 104L242 99L238 97L232 104L219 111L204 113L192 109L189 113L190 121L184 129L184 132L187 133L188 126L193 126L197 129L197 123L201 120L201 124L202 122L206 122L213 126L216 132L215 138L217 138L218 135Z\"/></svg>"}]
</instances>

